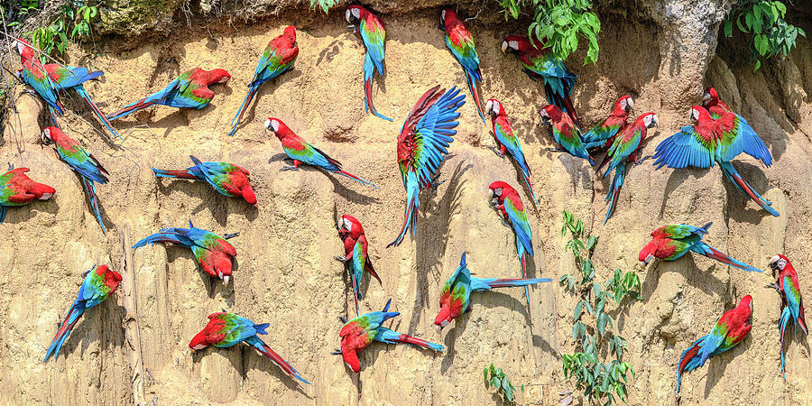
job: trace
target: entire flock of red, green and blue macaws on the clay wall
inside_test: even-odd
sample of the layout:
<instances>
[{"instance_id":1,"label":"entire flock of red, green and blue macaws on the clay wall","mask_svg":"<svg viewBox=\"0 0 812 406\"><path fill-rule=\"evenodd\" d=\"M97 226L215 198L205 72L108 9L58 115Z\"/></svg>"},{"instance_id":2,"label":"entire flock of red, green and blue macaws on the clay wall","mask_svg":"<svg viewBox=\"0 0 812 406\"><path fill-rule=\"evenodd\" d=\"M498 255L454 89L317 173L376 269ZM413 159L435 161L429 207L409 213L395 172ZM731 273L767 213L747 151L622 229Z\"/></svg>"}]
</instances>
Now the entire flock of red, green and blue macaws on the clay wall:
<instances>
[{"instance_id":1,"label":"entire flock of red, green and blue macaws on the clay wall","mask_svg":"<svg viewBox=\"0 0 812 406\"><path fill-rule=\"evenodd\" d=\"M384 76L384 37L383 22L375 14L361 5L350 5L346 9L346 19L353 24L355 32L360 34L366 54L364 57L364 109L372 114L392 121L391 118L379 113L373 104L373 77L374 72ZM505 154L512 157L521 169L521 180L530 192L533 202L538 204L531 183L531 171L521 150L518 136L513 132L508 119L505 106L497 99L488 99L484 105L479 97L477 88L482 81L479 69L474 39L466 28L465 23L457 14L445 9L440 17L440 28L445 32L448 50L462 65L466 76L468 88L474 98L474 104L480 118L485 121L485 115L492 119L492 134L495 147L490 147L497 155ZM109 173L101 163L78 142L65 134L57 121L57 116L64 112L60 104L60 94L69 88L84 99L90 109L97 115L99 121L111 134L119 137L115 127L110 121L130 115L141 109L155 106L173 106L183 108L203 108L214 97L214 92L208 88L217 83L225 83L231 76L223 69L191 69L181 74L166 88L153 93L148 97L125 106L112 115L104 115L93 103L82 83L101 76L101 71L89 71L85 68L65 67L60 64L42 64L37 58L36 50L23 40L14 42L16 50L22 60L22 69L19 69L17 78L33 88L33 93L42 97L47 103L53 126L42 130L42 142L53 143L60 160L77 172L82 185L88 193L88 200L97 217L102 230L104 222L98 209L96 183L105 184ZM623 186L623 178L627 171L627 163L640 164L647 158L639 156L641 142L646 137L647 130L659 125L659 119L654 113L639 115L631 123L629 113L634 103L632 97L620 97L614 104L614 109L598 125L586 133L582 133L575 107L569 98L576 83L576 75L569 72L561 60L557 60L548 49L535 40L512 35L504 39L502 51L514 51L521 61L523 70L543 82L549 101L548 106L540 110L543 125L551 129L551 133L558 143L556 151L567 152L573 156L584 158L590 165L595 161L590 152L605 150L604 160L598 165L598 170L608 164L604 177L614 170L614 179L611 189L606 196L608 209L604 220L608 221L614 211L614 204ZM274 38L263 51L259 64L254 71L254 78L248 85L248 93L231 123L229 135L234 135L247 106L256 96L257 90L263 83L280 76L291 69L299 47L296 45L296 29L289 26L284 32ZM438 167L448 153L448 146L454 141L457 134L456 121L460 113L459 108L465 104L465 94L460 94L457 88L448 91L435 87L429 89L411 109L406 117L401 134L397 141L397 161L400 165L403 187L406 189L406 208L401 231L388 246L400 245L407 232L411 229L414 235L414 222L417 208L420 207L420 191L438 185ZM762 198L739 173L734 169L731 161L741 152L770 166L771 157L767 147L761 141L752 127L741 115L735 114L731 108L724 104L714 88L708 88L702 98L702 106L692 106L690 118L695 125L682 127L679 133L673 134L662 141L656 148L654 164L657 168L709 168L718 163L727 179L734 182L737 189L743 191L749 198L768 211L773 216L779 216L771 203ZM268 118L265 127L272 131L281 141L282 149L292 160L292 166L281 171L296 171L302 163L317 166L323 171L340 174L356 180L365 185L377 188L372 182L355 176L342 169L341 162L336 161L322 152L316 146L307 143L299 135L293 133L291 128L278 118ZM248 204L256 204L254 189L251 187L249 172L245 169L226 162L204 162L190 156L192 166L185 170L158 170L153 169L156 177L177 178L185 180L206 181L219 193L228 197L244 198ZM10 168L0 176L0 222L5 217L6 207L22 206L34 199L46 200L56 192L55 189L42 183L37 183L25 175L27 168ZM435 324L445 328L455 318L470 309L469 299L473 291L487 291L494 288L523 286L527 296L528 305L530 297L527 287L540 282L549 282L549 278L527 278L527 255L533 255L532 234L527 213L522 204L519 192L503 181L495 181L489 186L492 191L491 206L502 216L503 224L511 227L516 236L517 254L521 263L522 279L492 279L475 278L467 268L466 254L462 254L459 267L443 285L440 295L439 311ZM669 225L662 226L651 233L651 242L640 252L639 259L645 266L653 258L665 261L678 259L689 251L702 254L736 268L748 272L761 272L745 263L716 250L702 241L706 235L706 226ZM353 297L355 300L356 318L342 319L345 323L339 332L340 348L334 354L342 355L346 364L355 371L360 372L361 364L357 352L369 346L373 341L384 343L408 343L414 346L443 351L444 347L397 333L384 328L383 323L389 318L398 316L398 312L388 311L390 302L382 311L373 311L364 315L359 314L358 300L362 300L359 289L364 272L370 273L375 279L381 281L370 261L368 241L364 235L364 227L355 217L345 215L337 224L338 235L344 242L345 254L337 256L337 260L345 262L352 282ZM228 244L227 239L232 235L216 235L210 231L192 226L189 228L167 228L147 236L134 245L134 248L156 243L171 243L184 245L194 254L200 267L211 277L228 283L232 275L232 260L236 255L234 246ZM781 371L784 371L783 339L784 331L791 319L793 325L800 327L807 333L804 321L804 308L798 284L798 273L793 269L789 259L783 255L776 255L770 260L770 268L776 282L769 285L779 292L783 303L780 316L781 337ZM78 298L62 321L56 336L45 356L45 361L51 355L58 355L60 347L70 331L78 322L78 318L85 310L96 306L106 300L108 295L115 291L122 280L118 272L111 270L107 265L94 266L87 272L78 291ZM390 300L391 301L391 300ZM699 338L693 346L682 353L678 363L678 384L681 375L705 364L708 357L730 349L743 340L750 333L752 327L749 318L752 313L752 298L747 295L742 298L739 305L724 313L716 321L714 328L705 336ZM232 313L214 313L208 316L208 325L193 337L189 347L198 350L206 346L234 346L245 342L254 346L257 351L267 355L281 369L303 383L308 383L291 364L285 362L269 346L257 336L267 334L268 324L254 324L253 321Z\"/></svg>"}]
</instances>

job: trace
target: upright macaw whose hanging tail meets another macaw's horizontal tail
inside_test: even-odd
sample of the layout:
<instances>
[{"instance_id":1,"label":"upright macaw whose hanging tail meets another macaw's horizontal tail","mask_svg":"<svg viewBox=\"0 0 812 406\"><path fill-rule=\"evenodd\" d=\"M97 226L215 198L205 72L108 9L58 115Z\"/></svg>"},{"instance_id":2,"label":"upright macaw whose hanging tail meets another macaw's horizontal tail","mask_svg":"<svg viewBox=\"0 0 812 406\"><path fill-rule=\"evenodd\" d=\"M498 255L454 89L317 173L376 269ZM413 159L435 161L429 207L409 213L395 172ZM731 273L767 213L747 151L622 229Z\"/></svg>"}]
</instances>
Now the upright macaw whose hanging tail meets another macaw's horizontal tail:
<instances>
[{"instance_id":1,"label":"upright macaw whose hanging tail meets another macaw's horizontal tail","mask_svg":"<svg viewBox=\"0 0 812 406\"><path fill-rule=\"evenodd\" d=\"M521 204L519 192L503 181L491 183L488 189L491 189L491 198L488 203L502 215L503 225L511 227L516 235L516 253L519 255L519 263L521 263L521 278L527 279L527 255L533 256L533 234L530 222L527 221L527 213L524 212L524 205ZM524 296L527 299L527 306L530 308L530 291L527 286L524 287Z\"/></svg>"}]
</instances>

